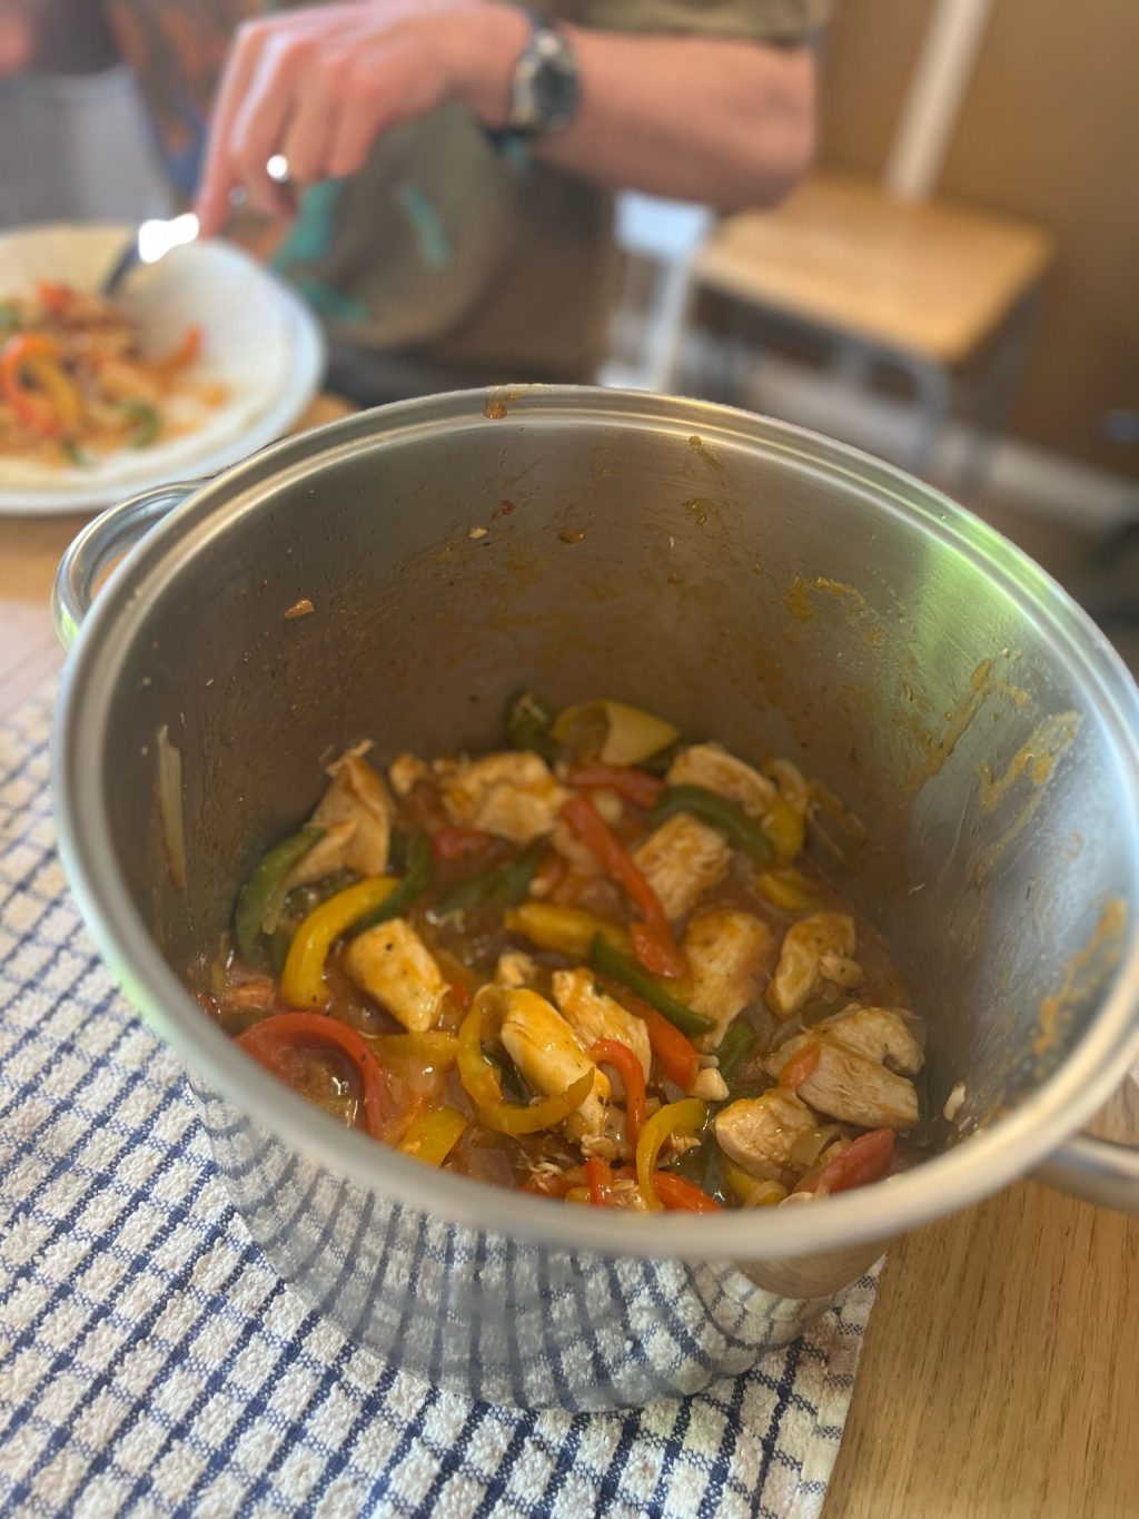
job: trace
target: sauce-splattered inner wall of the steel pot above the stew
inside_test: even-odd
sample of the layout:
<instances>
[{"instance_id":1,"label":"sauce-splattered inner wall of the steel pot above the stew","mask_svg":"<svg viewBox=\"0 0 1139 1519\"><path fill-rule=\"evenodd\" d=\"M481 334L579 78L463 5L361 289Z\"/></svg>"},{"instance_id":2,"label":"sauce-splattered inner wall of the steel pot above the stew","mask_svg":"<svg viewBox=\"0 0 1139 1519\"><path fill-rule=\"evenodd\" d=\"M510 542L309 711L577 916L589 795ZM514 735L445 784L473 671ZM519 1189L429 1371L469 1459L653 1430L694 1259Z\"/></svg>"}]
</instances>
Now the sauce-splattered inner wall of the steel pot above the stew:
<instances>
[{"instance_id":1,"label":"sauce-splattered inner wall of the steel pot above the stew","mask_svg":"<svg viewBox=\"0 0 1139 1519\"><path fill-rule=\"evenodd\" d=\"M864 828L832 873L884 930L929 1021L932 1136L967 1132L1078 1039L1134 890L1118 758L1048 617L1018 608L870 460L709 413L541 393L445 425L357 419L184 512L118 684L108 805L170 963L200 980L249 863L301 820L322 760L503 741L521 687L607 694L743 756L782 753ZM260 471L260 472L258 472ZM916 529L902 494L925 503ZM213 503L211 509L210 504ZM1021 597L1045 588L975 524ZM159 583L161 579L161 583ZM1011 582L1005 582L1010 585ZM302 598L313 612L286 617ZM155 804L182 758L187 890ZM1113 937L1115 936L1115 937ZM1081 955L1084 957L1081 960Z\"/></svg>"}]
</instances>

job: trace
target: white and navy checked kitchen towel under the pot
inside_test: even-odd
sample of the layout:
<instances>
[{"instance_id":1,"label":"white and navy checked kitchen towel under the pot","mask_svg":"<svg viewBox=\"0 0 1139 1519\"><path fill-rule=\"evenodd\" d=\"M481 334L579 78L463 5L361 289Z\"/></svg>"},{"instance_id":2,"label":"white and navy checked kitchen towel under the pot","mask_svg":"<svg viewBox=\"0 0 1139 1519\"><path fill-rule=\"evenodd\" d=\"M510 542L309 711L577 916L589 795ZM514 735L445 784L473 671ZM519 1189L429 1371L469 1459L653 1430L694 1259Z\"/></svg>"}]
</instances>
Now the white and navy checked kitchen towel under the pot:
<instances>
[{"instance_id":1,"label":"white and navy checked kitchen towel under the pot","mask_svg":"<svg viewBox=\"0 0 1139 1519\"><path fill-rule=\"evenodd\" d=\"M84 933L49 722L46 693L0 731L0 1510L819 1514L873 1276L756 1370L612 1414L471 1402L307 1308Z\"/></svg>"}]
</instances>

